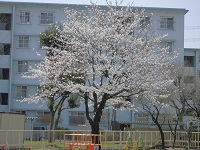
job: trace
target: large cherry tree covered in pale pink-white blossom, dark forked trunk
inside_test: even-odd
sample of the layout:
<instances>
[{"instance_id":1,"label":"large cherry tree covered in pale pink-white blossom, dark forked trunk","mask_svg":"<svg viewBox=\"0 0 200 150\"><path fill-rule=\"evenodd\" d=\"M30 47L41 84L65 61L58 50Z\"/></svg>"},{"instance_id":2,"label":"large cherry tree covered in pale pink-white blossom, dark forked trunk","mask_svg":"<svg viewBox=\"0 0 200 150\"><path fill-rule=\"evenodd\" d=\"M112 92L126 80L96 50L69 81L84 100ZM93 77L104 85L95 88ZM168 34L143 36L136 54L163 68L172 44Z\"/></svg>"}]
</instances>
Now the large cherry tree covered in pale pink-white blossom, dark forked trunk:
<instances>
[{"instance_id":1,"label":"large cherry tree covered in pale pink-white blossom, dark forked trunk","mask_svg":"<svg viewBox=\"0 0 200 150\"><path fill-rule=\"evenodd\" d=\"M134 109L127 98L141 93L156 96L154 90L166 90L172 83L168 68L175 56L159 46L165 36L145 21L144 9L92 4L83 11L69 7L65 13L59 40L68 50L54 49L56 55L51 61L45 58L32 77L53 85L43 93L47 96L55 91L79 94L93 134L99 134L105 107Z\"/></svg>"}]
</instances>

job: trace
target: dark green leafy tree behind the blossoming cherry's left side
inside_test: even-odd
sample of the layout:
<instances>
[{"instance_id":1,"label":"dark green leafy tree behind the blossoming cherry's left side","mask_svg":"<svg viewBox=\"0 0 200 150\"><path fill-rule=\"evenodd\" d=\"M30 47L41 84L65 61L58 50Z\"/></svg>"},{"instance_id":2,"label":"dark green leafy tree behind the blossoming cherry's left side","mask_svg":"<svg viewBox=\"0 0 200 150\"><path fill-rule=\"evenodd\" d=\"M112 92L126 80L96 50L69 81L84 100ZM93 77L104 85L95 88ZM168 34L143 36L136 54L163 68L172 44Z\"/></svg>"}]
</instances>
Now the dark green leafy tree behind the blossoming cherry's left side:
<instances>
[{"instance_id":1,"label":"dark green leafy tree behind the blossoming cherry's left side","mask_svg":"<svg viewBox=\"0 0 200 150\"><path fill-rule=\"evenodd\" d=\"M48 64L53 64L55 62L55 55L59 55L58 53L54 53L54 49L60 49L62 51L69 50L69 47L64 46L63 42L59 40L61 36L61 30L62 27L59 23L55 23L51 26L49 26L44 32L40 35L40 43L42 46L47 50L45 60L47 60ZM65 39L69 40L69 39ZM46 64L47 65L47 64ZM53 68L54 66L48 66L43 68L42 65L38 65L38 68L29 70L28 73L24 75L25 78L40 78L40 75L35 74L35 71L37 72L38 69L42 70L43 72L49 72L49 68ZM33 73L30 76L29 73ZM49 72L50 73L50 72ZM52 76L49 76L49 74L46 74L46 78L48 78L49 81L51 81ZM70 78L70 76L68 75ZM67 77L66 77L67 78ZM44 79L44 78L43 78ZM63 77L58 77L58 80L63 80ZM75 82L84 82L84 80L76 80ZM54 83L50 82L41 82L38 93L32 97L25 98L23 101L28 102L37 102L39 100L43 100L47 103L47 107L50 111L50 130L55 130L58 128L58 124L61 120L61 113L64 109L72 109L79 106L79 100L77 95L73 95L70 91L62 91L62 90L55 90ZM53 91L51 91L54 89ZM51 91L51 92L50 92ZM50 93L49 93L50 92ZM66 104L67 101L67 104ZM52 142L53 140L53 132L50 132L50 138L49 142Z\"/></svg>"}]
</instances>

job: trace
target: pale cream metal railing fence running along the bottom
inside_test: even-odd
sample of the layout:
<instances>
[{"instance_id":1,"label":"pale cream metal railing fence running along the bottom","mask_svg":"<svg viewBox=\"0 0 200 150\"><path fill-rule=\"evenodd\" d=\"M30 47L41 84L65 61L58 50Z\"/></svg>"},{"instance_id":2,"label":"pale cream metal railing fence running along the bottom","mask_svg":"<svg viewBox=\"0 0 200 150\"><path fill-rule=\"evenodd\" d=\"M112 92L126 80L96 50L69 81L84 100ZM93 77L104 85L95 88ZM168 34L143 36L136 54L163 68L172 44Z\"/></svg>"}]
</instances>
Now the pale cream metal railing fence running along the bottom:
<instances>
[{"instance_id":1,"label":"pale cream metal railing fence running along the bottom","mask_svg":"<svg viewBox=\"0 0 200 150\"><path fill-rule=\"evenodd\" d=\"M39 149L56 149L63 150L64 142L69 143L70 139L64 141L65 134L90 134L89 130L0 130L0 149L3 147L7 150L39 150ZM49 138L51 137L51 143ZM143 139L144 147L152 147L161 143L159 131L101 131L102 149L104 150L122 150L128 138L133 143L138 142L139 138ZM164 131L166 146L172 146L173 134L170 131ZM187 133L177 131L177 147L185 148L188 146ZM199 149L200 144L199 132L191 133L191 147ZM66 144L67 145L67 144ZM66 146L66 149L69 146Z\"/></svg>"}]
</instances>

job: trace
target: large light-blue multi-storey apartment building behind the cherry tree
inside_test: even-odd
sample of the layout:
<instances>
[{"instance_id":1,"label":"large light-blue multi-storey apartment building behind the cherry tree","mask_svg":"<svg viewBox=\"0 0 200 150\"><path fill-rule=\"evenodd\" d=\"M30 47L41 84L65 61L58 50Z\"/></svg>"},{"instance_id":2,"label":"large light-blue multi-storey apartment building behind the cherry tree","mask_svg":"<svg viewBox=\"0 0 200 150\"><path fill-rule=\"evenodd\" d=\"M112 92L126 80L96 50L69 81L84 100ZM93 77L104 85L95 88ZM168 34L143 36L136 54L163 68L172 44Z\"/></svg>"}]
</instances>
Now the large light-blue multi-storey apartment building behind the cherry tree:
<instances>
[{"instance_id":1,"label":"large light-blue multi-storey apartment building behind the cherry tree","mask_svg":"<svg viewBox=\"0 0 200 150\"><path fill-rule=\"evenodd\" d=\"M85 9L84 5L0 1L0 111L24 112L27 118L32 118L27 123L48 124L48 119L45 119L49 116L46 104L20 102L24 97L36 94L39 86L39 80L22 78L22 73L27 72L29 66L34 67L45 56L45 50L39 43L40 33L49 25L65 20L65 7ZM145 10L147 20L152 21L152 27L160 35L168 34L161 46L169 46L170 51L178 51L178 61L183 62L184 15L187 10ZM106 110L101 122L103 128L108 128L110 124L112 117L108 116L110 112ZM143 114L126 110L117 111L116 116L116 121L119 122L139 121ZM62 120L60 126L69 129L76 129L78 124L87 124L84 106L65 110Z\"/></svg>"}]
</instances>

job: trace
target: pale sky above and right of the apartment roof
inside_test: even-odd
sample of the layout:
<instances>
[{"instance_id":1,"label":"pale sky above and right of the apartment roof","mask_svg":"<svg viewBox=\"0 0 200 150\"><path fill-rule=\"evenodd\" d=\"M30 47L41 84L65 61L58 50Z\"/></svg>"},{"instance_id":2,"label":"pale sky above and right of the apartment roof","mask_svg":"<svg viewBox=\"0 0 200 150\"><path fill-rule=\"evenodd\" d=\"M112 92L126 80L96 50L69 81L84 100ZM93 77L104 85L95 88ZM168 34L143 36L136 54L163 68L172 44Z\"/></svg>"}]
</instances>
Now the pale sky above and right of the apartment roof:
<instances>
[{"instance_id":1,"label":"pale sky above and right of the apartment roof","mask_svg":"<svg viewBox=\"0 0 200 150\"><path fill-rule=\"evenodd\" d=\"M66 4L90 4L91 0L3 0L21 2L48 2ZM115 4L116 0L108 0ZM121 0L118 0L121 1ZM106 5L106 0L92 0L98 5ZM200 0L123 0L122 5L132 3L133 6L185 8L189 12L185 15L185 48L200 49Z\"/></svg>"}]
</instances>

